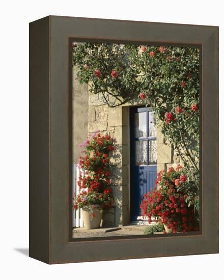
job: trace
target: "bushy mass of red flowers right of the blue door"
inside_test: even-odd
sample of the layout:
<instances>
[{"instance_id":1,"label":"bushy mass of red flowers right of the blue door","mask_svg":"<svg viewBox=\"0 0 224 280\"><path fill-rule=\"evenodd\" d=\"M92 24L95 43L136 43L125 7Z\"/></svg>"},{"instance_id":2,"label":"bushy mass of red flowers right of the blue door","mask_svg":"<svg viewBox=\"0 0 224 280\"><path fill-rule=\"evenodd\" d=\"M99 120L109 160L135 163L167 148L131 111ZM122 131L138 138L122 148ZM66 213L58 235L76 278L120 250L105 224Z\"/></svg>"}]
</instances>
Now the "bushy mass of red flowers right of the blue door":
<instances>
[{"instance_id":1,"label":"bushy mass of red flowers right of the blue door","mask_svg":"<svg viewBox=\"0 0 224 280\"><path fill-rule=\"evenodd\" d=\"M164 223L173 233L198 231L193 207L198 196L191 181L180 165L176 170L170 167L167 173L159 172L155 188L144 195L142 215L148 217L149 223Z\"/></svg>"}]
</instances>

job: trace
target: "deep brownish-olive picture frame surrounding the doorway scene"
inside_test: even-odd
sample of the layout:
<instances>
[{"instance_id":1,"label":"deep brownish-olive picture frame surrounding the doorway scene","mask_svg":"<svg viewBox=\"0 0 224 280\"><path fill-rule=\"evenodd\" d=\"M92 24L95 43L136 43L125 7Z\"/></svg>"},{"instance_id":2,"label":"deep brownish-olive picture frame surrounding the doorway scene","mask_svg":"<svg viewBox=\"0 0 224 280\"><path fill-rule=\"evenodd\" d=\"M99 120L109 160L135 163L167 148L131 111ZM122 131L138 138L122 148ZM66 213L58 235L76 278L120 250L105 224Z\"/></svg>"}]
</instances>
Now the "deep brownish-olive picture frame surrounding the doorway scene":
<instances>
[{"instance_id":1,"label":"deep brownish-olive picture frame surrounding the doorway scene","mask_svg":"<svg viewBox=\"0 0 224 280\"><path fill-rule=\"evenodd\" d=\"M201 230L71 237L73 40L201 51ZM48 16L30 23L30 257L48 264L218 253L218 27Z\"/></svg>"}]
</instances>

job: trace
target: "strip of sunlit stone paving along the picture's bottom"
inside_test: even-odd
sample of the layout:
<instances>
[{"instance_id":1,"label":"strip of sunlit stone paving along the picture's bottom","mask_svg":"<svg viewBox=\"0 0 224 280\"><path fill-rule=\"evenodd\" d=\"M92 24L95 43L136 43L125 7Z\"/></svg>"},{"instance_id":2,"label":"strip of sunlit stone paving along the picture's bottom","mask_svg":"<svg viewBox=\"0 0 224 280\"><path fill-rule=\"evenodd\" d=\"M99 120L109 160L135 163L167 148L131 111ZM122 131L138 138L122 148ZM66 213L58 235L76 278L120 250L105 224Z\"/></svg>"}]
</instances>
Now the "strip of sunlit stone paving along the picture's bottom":
<instances>
[{"instance_id":1,"label":"strip of sunlit stone paving along the picture's bottom","mask_svg":"<svg viewBox=\"0 0 224 280\"><path fill-rule=\"evenodd\" d=\"M73 238L87 237L107 237L122 235L144 235L146 225L129 225L118 228L99 228L94 230L86 230L85 228L74 228Z\"/></svg>"}]
</instances>

